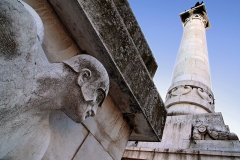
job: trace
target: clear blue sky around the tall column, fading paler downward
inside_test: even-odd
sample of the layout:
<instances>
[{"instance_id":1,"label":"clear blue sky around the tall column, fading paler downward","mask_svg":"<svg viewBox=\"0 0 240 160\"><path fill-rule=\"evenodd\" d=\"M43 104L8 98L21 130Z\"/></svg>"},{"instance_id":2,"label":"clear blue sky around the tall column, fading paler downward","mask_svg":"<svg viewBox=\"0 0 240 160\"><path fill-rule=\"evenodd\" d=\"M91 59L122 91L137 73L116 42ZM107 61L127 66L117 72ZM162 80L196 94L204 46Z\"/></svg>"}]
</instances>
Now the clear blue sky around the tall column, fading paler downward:
<instances>
[{"instance_id":1,"label":"clear blue sky around the tall column, fading paler downward","mask_svg":"<svg viewBox=\"0 0 240 160\"><path fill-rule=\"evenodd\" d=\"M163 100L170 86L183 26L179 14L193 0L129 0L158 63L155 85ZM200 1L201 2L201 1ZM205 0L211 28L206 30L215 111L240 138L240 0Z\"/></svg>"}]
</instances>

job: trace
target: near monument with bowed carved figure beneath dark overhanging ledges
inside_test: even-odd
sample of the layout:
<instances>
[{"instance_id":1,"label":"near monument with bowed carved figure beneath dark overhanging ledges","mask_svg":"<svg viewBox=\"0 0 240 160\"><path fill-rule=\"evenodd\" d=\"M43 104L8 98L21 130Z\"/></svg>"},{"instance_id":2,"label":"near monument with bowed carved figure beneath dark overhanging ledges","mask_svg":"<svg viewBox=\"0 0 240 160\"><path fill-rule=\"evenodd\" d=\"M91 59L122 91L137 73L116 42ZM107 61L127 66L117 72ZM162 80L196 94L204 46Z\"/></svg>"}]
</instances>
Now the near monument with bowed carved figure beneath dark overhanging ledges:
<instances>
[{"instance_id":1,"label":"near monument with bowed carved figure beneath dark overhanging ledges","mask_svg":"<svg viewBox=\"0 0 240 160\"><path fill-rule=\"evenodd\" d=\"M1 0L0 28L0 159L120 160L128 140L161 140L157 63L127 0Z\"/></svg>"}]
</instances>

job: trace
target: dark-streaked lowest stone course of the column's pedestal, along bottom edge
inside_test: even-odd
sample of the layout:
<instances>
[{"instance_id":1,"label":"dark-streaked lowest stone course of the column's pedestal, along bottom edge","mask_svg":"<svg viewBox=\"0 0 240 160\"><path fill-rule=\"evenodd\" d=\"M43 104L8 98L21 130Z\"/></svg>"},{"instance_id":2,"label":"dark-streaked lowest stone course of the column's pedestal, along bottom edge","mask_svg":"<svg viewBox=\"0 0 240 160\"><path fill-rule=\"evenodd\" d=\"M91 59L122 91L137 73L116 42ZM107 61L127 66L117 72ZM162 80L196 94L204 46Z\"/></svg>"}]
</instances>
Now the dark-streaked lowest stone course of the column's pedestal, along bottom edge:
<instances>
[{"instance_id":1,"label":"dark-streaked lowest stone course of the column's pedestal, along bottom edge","mask_svg":"<svg viewBox=\"0 0 240 160\"><path fill-rule=\"evenodd\" d=\"M152 149L152 148L135 148L127 147L122 160L129 159L148 159L148 160L232 160L240 159L240 153L229 151L204 151L192 149Z\"/></svg>"}]
</instances>

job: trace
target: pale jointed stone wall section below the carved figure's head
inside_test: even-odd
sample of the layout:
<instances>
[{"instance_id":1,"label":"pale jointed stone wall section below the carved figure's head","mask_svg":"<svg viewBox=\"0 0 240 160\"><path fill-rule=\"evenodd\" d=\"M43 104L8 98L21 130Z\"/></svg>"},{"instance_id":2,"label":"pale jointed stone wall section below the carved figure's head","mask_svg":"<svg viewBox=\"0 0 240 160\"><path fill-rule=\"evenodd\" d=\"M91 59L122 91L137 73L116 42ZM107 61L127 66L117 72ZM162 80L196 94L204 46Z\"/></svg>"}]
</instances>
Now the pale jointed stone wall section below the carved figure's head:
<instances>
[{"instance_id":1,"label":"pale jointed stone wall section below the carved figure's head","mask_svg":"<svg viewBox=\"0 0 240 160\"><path fill-rule=\"evenodd\" d=\"M50 115L51 141L43 159L121 159L131 129L107 97L95 117L82 124L61 111Z\"/></svg>"}]
</instances>

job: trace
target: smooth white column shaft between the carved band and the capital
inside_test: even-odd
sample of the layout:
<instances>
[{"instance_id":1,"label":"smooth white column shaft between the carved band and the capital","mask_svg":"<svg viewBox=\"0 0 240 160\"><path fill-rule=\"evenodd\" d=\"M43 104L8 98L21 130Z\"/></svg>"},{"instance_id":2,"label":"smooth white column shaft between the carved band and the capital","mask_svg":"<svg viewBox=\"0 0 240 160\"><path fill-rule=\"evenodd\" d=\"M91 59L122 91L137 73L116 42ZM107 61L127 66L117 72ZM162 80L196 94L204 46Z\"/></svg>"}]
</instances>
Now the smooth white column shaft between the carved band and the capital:
<instances>
[{"instance_id":1,"label":"smooth white column shaft between the carved band and the capital","mask_svg":"<svg viewBox=\"0 0 240 160\"><path fill-rule=\"evenodd\" d=\"M199 16L200 18L194 19L195 16ZM176 61L176 64L178 65L175 66L172 83L181 80L178 78L178 76L183 76L185 74L191 75L189 76L189 78L184 78L185 80L193 80L192 76L198 75L202 78L194 80L202 82L203 84L211 88L209 62L207 57L205 24L203 23L203 18L200 14L194 14L190 16L189 19L190 20L184 26L183 37L178 53L178 58ZM205 54L203 54L203 52ZM185 61L182 62L180 65L178 59L182 59L184 57L188 59L185 59ZM201 62L202 66L204 67L197 67L196 61L198 61L198 63ZM189 66L189 64L191 64L191 66ZM178 73L177 70L182 70L182 74L176 75Z\"/></svg>"}]
</instances>

